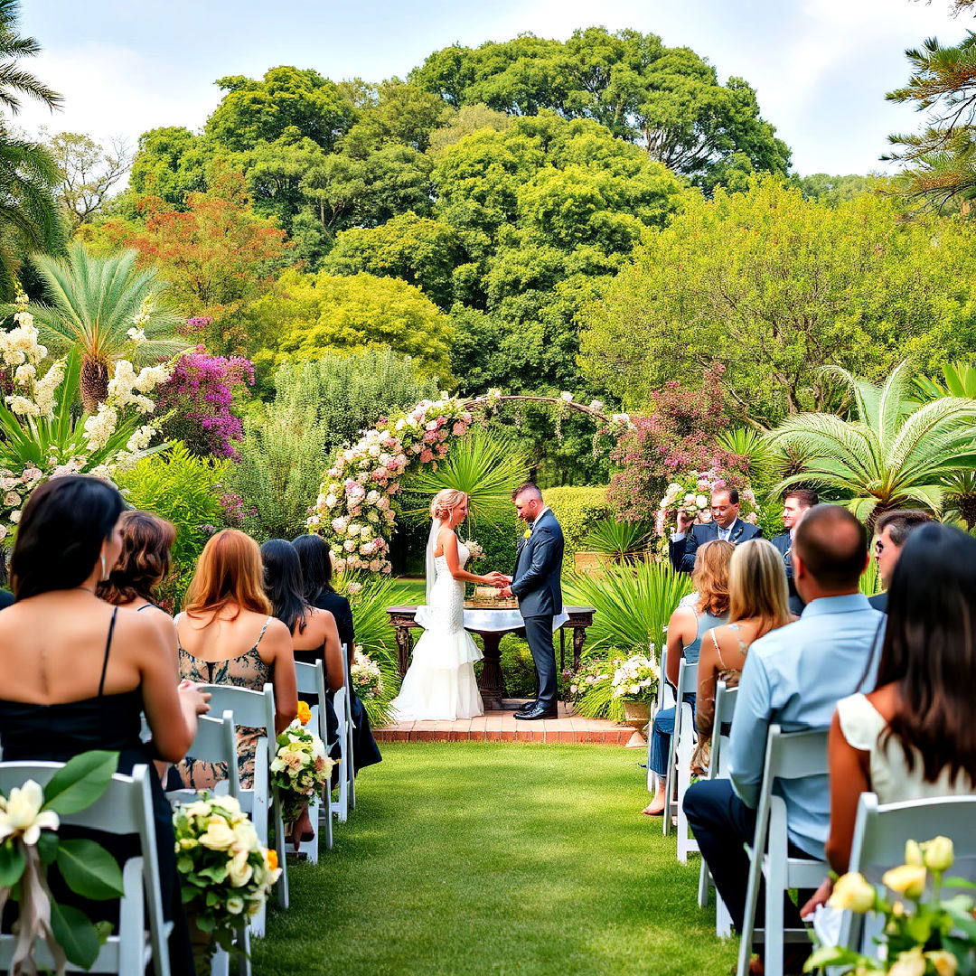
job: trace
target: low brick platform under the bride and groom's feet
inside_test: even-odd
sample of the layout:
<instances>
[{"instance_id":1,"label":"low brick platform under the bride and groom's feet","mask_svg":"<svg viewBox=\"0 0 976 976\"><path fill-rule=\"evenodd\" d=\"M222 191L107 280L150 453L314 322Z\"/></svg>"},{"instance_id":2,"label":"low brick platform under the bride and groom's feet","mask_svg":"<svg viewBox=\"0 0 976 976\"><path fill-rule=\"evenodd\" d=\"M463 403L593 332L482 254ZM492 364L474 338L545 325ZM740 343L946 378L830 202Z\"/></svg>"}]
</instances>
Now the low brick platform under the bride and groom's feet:
<instances>
[{"instance_id":1,"label":"low brick platform under the bride and groom's feet","mask_svg":"<svg viewBox=\"0 0 976 976\"><path fill-rule=\"evenodd\" d=\"M632 730L615 722L597 718L581 718L567 712L559 703L558 718L543 718L535 722L516 720L514 708L521 703L512 700L511 709L485 712L477 718L454 722L401 722L374 729L380 742L457 742L487 740L490 742L586 742L606 746L626 746Z\"/></svg>"}]
</instances>

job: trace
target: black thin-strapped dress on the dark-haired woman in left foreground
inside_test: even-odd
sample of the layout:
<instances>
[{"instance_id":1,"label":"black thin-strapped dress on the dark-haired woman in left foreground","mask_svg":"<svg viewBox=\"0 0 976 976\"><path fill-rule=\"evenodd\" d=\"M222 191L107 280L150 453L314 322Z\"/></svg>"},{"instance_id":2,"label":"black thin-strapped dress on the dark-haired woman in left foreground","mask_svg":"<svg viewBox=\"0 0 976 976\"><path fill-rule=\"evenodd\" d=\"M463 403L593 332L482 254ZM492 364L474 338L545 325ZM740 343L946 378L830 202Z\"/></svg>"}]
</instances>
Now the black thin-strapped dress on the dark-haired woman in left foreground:
<instances>
[{"instance_id":1,"label":"black thin-strapped dress on the dark-haired woman in left foreground","mask_svg":"<svg viewBox=\"0 0 976 976\"><path fill-rule=\"evenodd\" d=\"M112 621L114 625L114 617ZM109 631L109 646L111 631ZM105 661L108 659L105 648ZM102 684L104 669L102 670ZM119 753L118 772L131 774L140 763L149 766L152 791L152 813L156 828L156 849L163 897L163 912L174 923L170 936L170 969L178 973L194 972L189 930L180 898L177 873L176 838L173 834L173 811L163 793L159 777L152 766L151 747L142 743L142 690L134 688L118 695L86 698L80 702L37 705L29 702L0 700L0 744L4 760L33 762L67 762L80 752L101 749ZM62 834L68 833L64 828ZM73 833L73 832L71 832ZM117 858L130 857L138 851L135 838L85 831ZM52 888L54 889L54 879ZM56 891L65 901L76 904L93 920L118 923L117 902L81 903L78 896ZM5 926L6 927L6 926Z\"/></svg>"}]
</instances>

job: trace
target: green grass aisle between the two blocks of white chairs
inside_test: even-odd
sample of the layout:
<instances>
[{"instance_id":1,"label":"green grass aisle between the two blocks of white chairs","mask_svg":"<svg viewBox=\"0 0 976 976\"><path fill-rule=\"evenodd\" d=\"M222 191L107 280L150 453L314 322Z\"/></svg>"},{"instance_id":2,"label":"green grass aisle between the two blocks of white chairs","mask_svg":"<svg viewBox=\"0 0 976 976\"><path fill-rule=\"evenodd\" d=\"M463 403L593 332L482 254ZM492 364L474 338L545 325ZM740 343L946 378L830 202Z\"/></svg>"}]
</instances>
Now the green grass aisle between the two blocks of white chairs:
<instances>
[{"instance_id":1,"label":"green grass aisle between the two blocks of white chairs","mask_svg":"<svg viewBox=\"0 0 976 976\"><path fill-rule=\"evenodd\" d=\"M396 743L317 867L290 869L256 976L724 976L697 857L640 816L640 752Z\"/></svg>"}]
</instances>

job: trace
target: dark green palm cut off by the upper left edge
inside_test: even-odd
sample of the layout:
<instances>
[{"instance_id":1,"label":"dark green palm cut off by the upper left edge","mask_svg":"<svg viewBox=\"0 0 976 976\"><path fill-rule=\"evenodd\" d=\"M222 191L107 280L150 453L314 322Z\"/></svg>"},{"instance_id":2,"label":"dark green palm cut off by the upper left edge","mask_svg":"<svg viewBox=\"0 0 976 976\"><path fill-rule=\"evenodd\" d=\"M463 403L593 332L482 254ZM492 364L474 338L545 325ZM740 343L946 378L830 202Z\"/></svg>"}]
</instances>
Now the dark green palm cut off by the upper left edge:
<instances>
[{"instance_id":1,"label":"dark green palm cut off by the upper left edge","mask_svg":"<svg viewBox=\"0 0 976 976\"><path fill-rule=\"evenodd\" d=\"M20 67L41 47L20 37L19 0L0 0L0 106L16 115L23 97L50 108L61 96ZM13 298L16 275L24 256L35 252L61 254L64 226L54 190L60 180L50 153L37 142L13 137L0 120L0 297Z\"/></svg>"}]
</instances>

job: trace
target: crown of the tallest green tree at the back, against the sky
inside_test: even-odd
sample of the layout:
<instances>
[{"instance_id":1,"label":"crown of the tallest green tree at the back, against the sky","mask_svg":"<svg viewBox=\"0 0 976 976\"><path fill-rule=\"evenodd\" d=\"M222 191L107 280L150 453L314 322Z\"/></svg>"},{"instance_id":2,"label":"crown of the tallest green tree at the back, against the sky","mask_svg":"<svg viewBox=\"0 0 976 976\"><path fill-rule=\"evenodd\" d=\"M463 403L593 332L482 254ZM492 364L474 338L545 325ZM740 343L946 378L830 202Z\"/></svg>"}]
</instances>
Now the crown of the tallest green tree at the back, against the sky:
<instances>
[{"instance_id":1,"label":"crown of the tallest green tree at the back, against the sky","mask_svg":"<svg viewBox=\"0 0 976 976\"><path fill-rule=\"evenodd\" d=\"M590 118L711 190L731 170L785 174L790 150L762 119L752 87L655 34L574 31L565 43L523 34L434 52L413 81L456 107L483 102L514 115L551 109Z\"/></svg>"}]
</instances>

